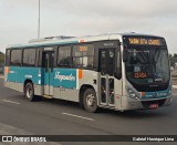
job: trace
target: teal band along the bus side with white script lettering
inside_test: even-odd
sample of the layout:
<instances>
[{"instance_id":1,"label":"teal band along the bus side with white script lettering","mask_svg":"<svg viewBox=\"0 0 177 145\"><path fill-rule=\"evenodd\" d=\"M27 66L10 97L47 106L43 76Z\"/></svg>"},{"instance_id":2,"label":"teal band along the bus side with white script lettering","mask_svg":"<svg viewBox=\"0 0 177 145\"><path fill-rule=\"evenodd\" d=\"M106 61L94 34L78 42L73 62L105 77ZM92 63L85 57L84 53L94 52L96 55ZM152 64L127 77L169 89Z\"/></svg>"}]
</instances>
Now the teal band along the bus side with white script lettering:
<instances>
[{"instance_id":1,"label":"teal band along the bus side with white script lettering","mask_svg":"<svg viewBox=\"0 0 177 145\"><path fill-rule=\"evenodd\" d=\"M24 83L25 80L31 80L37 85L76 89L76 69L53 69L49 73L42 68L10 66L9 71L8 82Z\"/></svg>"}]
</instances>

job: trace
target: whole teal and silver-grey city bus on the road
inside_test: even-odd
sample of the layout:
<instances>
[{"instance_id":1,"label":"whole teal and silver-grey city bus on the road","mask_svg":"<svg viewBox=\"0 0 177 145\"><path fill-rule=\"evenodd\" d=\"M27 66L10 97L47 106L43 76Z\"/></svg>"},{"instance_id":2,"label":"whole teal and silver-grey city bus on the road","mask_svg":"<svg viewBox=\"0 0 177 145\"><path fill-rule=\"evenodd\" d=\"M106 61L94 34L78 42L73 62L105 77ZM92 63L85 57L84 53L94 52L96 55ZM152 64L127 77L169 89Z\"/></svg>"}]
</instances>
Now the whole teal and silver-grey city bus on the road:
<instances>
[{"instance_id":1,"label":"whole teal and silver-grey city bus on the road","mask_svg":"<svg viewBox=\"0 0 177 145\"><path fill-rule=\"evenodd\" d=\"M77 102L87 112L150 110L173 102L164 38L140 33L51 37L6 49L4 86Z\"/></svg>"}]
</instances>

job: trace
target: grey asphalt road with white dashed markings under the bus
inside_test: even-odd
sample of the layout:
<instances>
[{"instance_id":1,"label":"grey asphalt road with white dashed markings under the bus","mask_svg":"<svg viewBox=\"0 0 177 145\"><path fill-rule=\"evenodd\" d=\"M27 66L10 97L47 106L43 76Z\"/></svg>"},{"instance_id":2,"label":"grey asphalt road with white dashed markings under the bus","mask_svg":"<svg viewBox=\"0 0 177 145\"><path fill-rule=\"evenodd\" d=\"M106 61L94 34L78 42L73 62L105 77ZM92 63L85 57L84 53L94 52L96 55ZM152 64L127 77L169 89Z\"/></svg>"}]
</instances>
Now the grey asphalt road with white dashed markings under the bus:
<instances>
[{"instance_id":1,"label":"grey asphalt road with white dashed markings under the bus","mask_svg":"<svg viewBox=\"0 0 177 145\"><path fill-rule=\"evenodd\" d=\"M101 110L93 114L81 110L77 103L66 101L29 102L22 93L4 87L0 79L0 134L177 135L177 96L174 95L171 106L158 110L124 113Z\"/></svg>"}]
</instances>

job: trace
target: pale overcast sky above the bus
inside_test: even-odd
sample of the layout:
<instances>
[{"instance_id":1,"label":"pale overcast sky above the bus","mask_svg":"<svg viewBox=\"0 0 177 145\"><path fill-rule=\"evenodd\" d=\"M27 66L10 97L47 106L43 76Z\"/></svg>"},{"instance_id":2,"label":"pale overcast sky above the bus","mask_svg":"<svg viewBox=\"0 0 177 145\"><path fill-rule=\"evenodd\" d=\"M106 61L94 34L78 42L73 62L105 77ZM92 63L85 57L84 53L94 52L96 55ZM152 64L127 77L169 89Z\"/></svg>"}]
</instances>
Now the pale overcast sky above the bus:
<instances>
[{"instance_id":1,"label":"pale overcast sky above the bus","mask_svg":"<svg viewBox=\"0 0 177 145\"><path fill-rule=\"evenodd\" d=\"M40 0L40 37L138 32L177 53L177 0ZM0 0L0 51L38 38L39 0Z\"/></svg>"}]
</instances>

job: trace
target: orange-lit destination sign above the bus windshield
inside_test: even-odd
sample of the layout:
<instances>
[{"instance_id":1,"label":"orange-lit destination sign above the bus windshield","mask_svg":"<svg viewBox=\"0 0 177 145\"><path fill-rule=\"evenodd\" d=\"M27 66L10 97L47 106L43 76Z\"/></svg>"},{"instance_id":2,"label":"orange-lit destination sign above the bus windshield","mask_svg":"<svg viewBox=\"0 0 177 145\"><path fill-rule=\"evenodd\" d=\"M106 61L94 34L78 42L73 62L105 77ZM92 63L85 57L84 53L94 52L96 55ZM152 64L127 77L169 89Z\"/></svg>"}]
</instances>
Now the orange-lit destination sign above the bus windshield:
<instances>
[{"instance_id":1,"label":"orange-lit destination sign above the bus windshield","mask_svg":"<svg viewBox=\"0 0 177 145\"><path fill-rule=\"evenodd\" d=\"M124 37L124 41L129 45L165 45L165 40L154 37Z\"/></svg>"}]
</instances>

